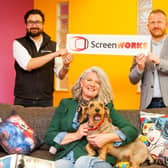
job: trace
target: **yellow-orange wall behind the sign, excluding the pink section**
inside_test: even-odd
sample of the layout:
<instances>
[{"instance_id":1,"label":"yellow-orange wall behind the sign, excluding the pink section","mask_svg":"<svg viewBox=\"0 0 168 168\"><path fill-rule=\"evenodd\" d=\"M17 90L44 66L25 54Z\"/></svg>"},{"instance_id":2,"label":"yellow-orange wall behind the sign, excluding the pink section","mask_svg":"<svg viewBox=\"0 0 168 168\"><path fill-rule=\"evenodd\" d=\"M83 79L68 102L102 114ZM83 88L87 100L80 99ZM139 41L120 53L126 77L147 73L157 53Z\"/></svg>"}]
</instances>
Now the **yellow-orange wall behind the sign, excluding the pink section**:
<instances>
[{"instance_id":1,"label":"yellow-orange wall behind the sign, excluding the pink section","mask_svg":"<svg viewBox=\"0 0 168 168\"><path fill-rule=\"evenodd\" d=\"M34 0L35 7L44 11L46 31L56 39L56 4L60 0ZM88 34L136 34L137 0L69 0L69 33ZM167 10L167 1L153 0L153 8ZM128 80L131 56L73 55L69 71L69 88L80 73L93 65L102 67L108 74L114 92L117 109L138 109L140 94L137 86ZM54 103L70 96L70 90L55 91Z\"/></svg>"}]
</instances>

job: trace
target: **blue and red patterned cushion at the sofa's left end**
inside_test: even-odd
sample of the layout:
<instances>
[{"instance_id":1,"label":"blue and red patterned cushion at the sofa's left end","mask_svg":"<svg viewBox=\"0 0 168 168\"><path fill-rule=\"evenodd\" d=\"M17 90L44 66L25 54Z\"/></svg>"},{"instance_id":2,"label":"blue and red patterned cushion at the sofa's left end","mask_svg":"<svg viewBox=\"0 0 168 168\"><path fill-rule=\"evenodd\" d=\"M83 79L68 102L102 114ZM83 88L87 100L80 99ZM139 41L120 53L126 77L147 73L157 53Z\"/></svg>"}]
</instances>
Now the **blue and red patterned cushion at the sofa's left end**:
<instances>
[{"instance_id":1,"label":"blue and red patterned cushion at the sofa's left end","mask_svg":"<svg viewBox=\"0 0 168 168\"><path fill-rule=\"evenodd\" d=\"M0 123L0 144L8 154L30 153L40 144L34 130L18 114Z\"/></svg>"}]
</instances>

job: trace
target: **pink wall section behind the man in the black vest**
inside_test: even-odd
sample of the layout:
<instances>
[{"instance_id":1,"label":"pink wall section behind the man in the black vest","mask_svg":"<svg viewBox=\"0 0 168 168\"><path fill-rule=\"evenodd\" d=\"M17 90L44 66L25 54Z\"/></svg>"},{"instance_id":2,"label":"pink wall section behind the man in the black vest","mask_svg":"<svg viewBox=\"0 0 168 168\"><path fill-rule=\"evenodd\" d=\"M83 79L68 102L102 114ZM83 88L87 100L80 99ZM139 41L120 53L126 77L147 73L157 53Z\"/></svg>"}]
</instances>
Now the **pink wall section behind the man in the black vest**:
<instances>
[{"instance_id":1,"label":"pink wall section behind the man in the black vest","mask_svg":"<svg viewBox=\"0 0 168 168\"><path fill-rule=\"evenodd\" d=\"M25 33L23 15L33 7L33 0L1 0L0 5L0 102L13 103L13 39Z\"/></svg>"}]
</instances>

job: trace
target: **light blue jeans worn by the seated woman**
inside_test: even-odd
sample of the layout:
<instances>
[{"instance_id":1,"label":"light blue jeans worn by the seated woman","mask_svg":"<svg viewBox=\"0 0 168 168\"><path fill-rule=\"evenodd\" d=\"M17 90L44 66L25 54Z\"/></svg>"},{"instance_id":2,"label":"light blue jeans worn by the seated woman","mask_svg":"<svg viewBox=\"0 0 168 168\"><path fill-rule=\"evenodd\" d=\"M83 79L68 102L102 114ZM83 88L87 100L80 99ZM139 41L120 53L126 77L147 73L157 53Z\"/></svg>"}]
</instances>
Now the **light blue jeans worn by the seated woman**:
<instances>
[{"instance_id":1,"label":"light blue jeans worn by the seated woman","mask_svg":"<svg viewBox=\"0 0 168 168\"><path fill-rule=\"evenodd\" d=\"M60 159L55 161L55 168L113 168L109 163L92 156L81 156L75 163Z\"/></svg>"}]
</instances>

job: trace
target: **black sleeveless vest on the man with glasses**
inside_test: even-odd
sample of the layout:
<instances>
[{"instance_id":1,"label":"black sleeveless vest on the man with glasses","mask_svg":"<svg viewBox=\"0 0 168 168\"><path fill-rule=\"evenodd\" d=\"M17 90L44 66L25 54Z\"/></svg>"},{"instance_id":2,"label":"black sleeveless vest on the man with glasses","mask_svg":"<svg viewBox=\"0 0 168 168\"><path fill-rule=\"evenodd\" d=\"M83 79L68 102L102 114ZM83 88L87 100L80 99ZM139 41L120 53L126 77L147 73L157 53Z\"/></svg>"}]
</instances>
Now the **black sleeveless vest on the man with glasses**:
<instances>
[{"instance_id":1,"label":"black sleeveless vest on the man with glasses","mask_svg":"<svg viewBox=\"0 0 168 168\"><path fill-rule=\"evenodd\" d=\"M43 43L37 51L34 42L28 35L16 39L29 52L31 57L39 57L56 50L56 43L43 33ZM54 60L32 71L25 71L15 61L16 79L14 95L31 100L52 99L54 85Z\"/></svg>"}]
</instances>

